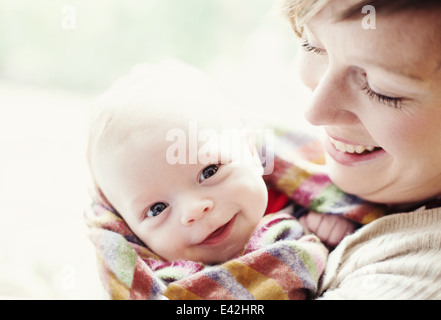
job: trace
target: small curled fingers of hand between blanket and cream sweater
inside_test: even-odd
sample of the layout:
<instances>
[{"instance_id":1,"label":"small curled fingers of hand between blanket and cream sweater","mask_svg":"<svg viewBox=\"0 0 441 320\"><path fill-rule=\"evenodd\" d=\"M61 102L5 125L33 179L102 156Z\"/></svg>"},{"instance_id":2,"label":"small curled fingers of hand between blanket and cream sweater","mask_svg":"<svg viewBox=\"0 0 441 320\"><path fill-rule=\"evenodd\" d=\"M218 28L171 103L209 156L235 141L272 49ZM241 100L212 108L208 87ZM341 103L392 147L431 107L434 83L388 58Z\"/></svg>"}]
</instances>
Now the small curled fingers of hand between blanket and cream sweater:
<instances>
[{"instance_id":1,"label":"small curled fingers of hand between blanket and cream sweater","mask_svg":"<svg viewBox=\"0 0 441 320\"><path fill-rule=\"evenodd\" d=\"M303 227L314 233L329 248L334 249L343 238L355 230L354 222L341 216L309 212L299 218Z\"/></svg>"}]
</instances>

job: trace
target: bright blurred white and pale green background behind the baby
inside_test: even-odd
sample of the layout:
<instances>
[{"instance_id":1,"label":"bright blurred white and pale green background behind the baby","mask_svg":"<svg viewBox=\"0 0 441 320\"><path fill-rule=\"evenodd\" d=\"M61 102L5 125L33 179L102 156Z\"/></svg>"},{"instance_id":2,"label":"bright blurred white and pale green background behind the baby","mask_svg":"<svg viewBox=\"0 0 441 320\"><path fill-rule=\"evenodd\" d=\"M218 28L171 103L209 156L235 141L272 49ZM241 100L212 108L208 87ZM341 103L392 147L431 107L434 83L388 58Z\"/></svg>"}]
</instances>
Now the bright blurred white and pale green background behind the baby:
<instances>
[{"instance_id":1,"label":"bright blurred white and pale green background behind the baby","mask_svg":"<svg viewBox=\"0 0 441 320\"><path fill-rule=\"evenodd\" d=\"M140 63L199 67L253 116L307 126L274 0L0 0L0 298L101 299L85 235L90 106Z\"/></svg>"}]
</instances>

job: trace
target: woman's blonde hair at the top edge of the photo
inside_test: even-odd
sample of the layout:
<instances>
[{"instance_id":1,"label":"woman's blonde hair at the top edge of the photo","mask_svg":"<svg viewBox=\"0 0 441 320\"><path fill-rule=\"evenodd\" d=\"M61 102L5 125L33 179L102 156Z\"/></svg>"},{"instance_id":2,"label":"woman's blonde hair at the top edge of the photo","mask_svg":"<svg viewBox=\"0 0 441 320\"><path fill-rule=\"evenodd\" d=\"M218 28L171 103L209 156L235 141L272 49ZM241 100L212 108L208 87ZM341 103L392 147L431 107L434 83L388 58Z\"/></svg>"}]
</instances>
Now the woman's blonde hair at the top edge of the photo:
<instances>
[{"instance_id":1,"label":"woman's blonde hair at the top edge of the photo","mask_svg":"<svg viewBox=\"0 0 441 320\"><path fill-rule=\"evenodd\" d=\"M330 1L333 0L284 0L282 14L289 20L297 36L302 37L303 26L317 13L319 13ZM439 0L360 0L352 6L344 9L336 21L352 19L361 15L361 9L371 5L377 14L390 14L403 10L418 10L440 8Z\"/></svg>"}]
</instances>

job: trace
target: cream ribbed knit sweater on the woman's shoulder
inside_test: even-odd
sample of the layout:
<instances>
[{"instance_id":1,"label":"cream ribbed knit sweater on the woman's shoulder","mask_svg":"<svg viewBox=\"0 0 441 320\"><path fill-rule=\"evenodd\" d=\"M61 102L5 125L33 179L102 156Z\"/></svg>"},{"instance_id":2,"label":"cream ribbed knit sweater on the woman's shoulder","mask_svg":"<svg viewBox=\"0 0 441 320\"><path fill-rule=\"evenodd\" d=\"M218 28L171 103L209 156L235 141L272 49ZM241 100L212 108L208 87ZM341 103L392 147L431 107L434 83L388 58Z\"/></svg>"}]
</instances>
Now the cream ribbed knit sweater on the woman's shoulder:
<instances>
[{"instance_id":1,"label":"cream ribbed knit sweater on the woman's shoulder","mask_svg":"<svg viewBox=\"0 0 441 320\"><path fill-rule=\"evenodd\" d=\"M441 208L380 218L330 254L321 299L441 299Z\"/></svg>"}]
</instances>

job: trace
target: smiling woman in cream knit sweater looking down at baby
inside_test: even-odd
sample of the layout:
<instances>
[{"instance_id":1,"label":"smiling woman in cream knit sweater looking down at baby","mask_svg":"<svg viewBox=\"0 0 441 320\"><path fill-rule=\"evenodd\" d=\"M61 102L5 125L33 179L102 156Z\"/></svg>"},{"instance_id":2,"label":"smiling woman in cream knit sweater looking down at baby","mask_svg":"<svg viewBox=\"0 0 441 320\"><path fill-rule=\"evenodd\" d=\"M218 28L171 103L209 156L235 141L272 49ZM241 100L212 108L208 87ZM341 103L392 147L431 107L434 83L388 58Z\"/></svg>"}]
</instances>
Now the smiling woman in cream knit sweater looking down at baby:
<instances>
[{"instance_id":1,"label":"smiling woman in cream knit sweater looking down at baby","mask_svg":"<svg viewBox=\"0 0 441 320\"><path fill-rule=\"evenodd\" d=\"M322 298L441 299L441 3L287 0L285 10L332 180L390 211L332 252Z\"/></svg>"}]
</instances>

